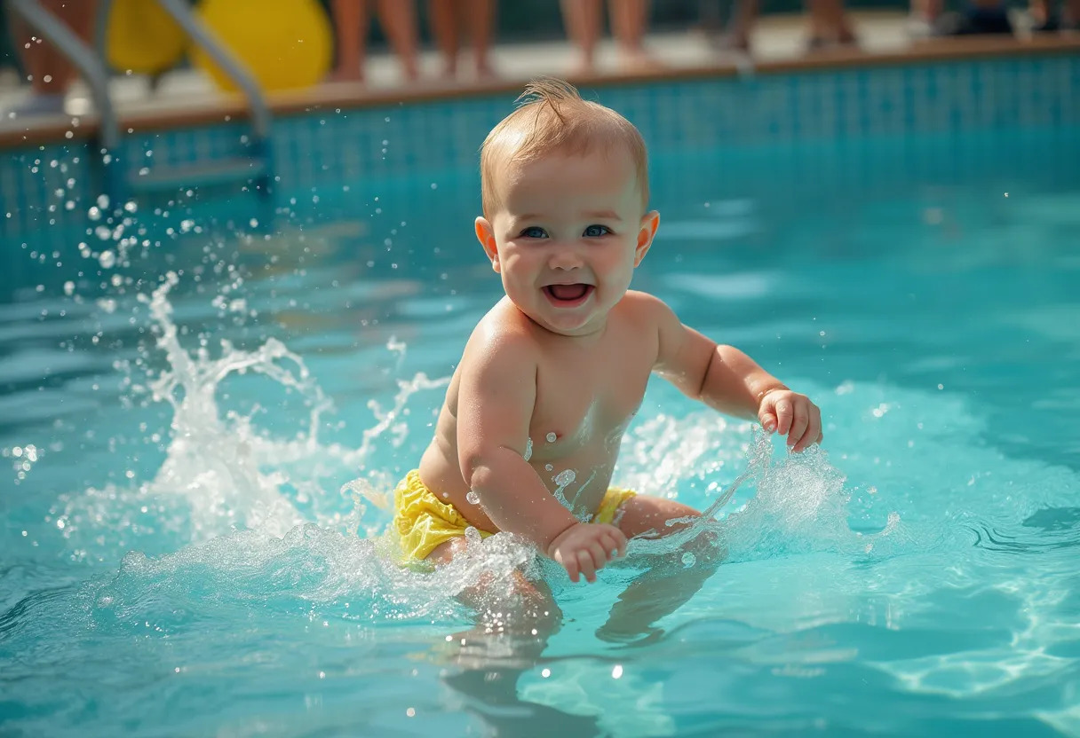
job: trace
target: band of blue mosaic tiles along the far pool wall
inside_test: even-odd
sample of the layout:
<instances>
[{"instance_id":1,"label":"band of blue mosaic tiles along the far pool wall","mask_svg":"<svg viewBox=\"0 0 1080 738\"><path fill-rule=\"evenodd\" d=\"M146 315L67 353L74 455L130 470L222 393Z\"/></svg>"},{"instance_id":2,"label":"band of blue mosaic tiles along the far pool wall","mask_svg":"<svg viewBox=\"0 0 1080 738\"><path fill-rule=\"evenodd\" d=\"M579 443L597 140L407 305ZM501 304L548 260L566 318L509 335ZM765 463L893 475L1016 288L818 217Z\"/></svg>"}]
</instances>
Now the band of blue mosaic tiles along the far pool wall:
<instances>
[{"instance_id":1,"label":"band of blue mosaic tiles along the far pool wall","mask_svg":"<svg viewBox=\"0 0 1080 738\"><path fill-rule=\"evenodd\" d=\"M798 142L1066 128L1080 125L1078 91L1080 58L1074 55L750 73L582 93L626 115L650 151L663 154L731 147L783 152ZM278 190L318 194L350 182L475 168L484 136L512 107L513 95L503 95L279 117L272 136ZM136 131L114 153L126 175L137 177L156 166L242 155L249 135L244 121ZM0 237L63 230L50 223L84 231L99 189L92 173L97 167L87 162L97 155L89 145L69 145L0 158ZM834 163L821 158L821 165Z\"/></svg>"}]
</instances>

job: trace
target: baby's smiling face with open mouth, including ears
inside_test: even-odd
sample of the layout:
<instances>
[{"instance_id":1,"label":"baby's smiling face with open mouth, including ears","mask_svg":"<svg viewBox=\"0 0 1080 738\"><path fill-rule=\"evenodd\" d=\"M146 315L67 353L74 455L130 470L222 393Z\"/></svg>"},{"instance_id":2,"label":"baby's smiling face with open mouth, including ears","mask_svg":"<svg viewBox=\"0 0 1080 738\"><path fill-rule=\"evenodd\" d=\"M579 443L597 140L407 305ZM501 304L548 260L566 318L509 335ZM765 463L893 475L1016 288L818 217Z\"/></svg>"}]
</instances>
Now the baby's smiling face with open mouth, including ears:
<instances>
[{"instance_id":1,"label":"baby's smiling face with open mouth, including ears","mask_svg":"<svg viewBox=\"0 0 1080 738\"><path fill-rule=\"evenodd\" d=\"M507 296L553 332L602 329L656 232L630 153L553 154L508 167L496 187L499 209L477 235Z\"/></svg>"}]
</instances>

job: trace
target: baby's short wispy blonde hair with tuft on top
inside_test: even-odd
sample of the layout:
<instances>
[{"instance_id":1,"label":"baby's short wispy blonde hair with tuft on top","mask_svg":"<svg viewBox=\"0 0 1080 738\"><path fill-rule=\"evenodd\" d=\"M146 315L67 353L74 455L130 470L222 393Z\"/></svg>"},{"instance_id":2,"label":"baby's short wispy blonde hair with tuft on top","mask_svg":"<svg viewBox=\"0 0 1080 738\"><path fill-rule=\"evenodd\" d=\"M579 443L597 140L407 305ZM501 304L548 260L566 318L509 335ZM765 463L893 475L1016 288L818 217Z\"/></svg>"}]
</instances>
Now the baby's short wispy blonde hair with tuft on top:
<instances>
[{"instance_id":1,"label":"baby's short wispy blonde hair with tuft on top","mask_svg":"<svg viewBox=\"0 0 1080 738\"><path fill-rule=\"evenodd\" d=\"M625 147L634 162L642 207L649 202L649 170L645 140L633 123L610 108L581 98L573 85L551 78L530 82L484 139L480 154L484 216L499 208L496 172L509 164L534 161L552 152L580 154L596 148Z\"/></svg>"}]
</instances>

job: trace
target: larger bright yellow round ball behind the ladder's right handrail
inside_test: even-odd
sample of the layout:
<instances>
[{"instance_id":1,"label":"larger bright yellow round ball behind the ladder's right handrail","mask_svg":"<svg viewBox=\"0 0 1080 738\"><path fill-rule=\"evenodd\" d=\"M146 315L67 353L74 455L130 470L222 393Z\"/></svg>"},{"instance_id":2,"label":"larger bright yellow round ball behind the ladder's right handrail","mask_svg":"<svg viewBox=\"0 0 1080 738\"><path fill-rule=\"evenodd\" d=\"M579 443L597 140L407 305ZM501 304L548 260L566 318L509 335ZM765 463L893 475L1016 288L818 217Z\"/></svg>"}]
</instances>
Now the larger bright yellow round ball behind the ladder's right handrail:
<instances>
[{"instance_id":1,"label":"larger bright yellow round ball behind the ladder's right handrail","mask_svg":"<svg viewBox=\"0 0 1080 738\"><path fill-rule=\"evenodd\" d=\"M197 13L265 91L309 87L329 70L330 23L318 0L203 0ZM198 45L191 60L218 87L235 92Z\"/></svg>"}]
</instances>

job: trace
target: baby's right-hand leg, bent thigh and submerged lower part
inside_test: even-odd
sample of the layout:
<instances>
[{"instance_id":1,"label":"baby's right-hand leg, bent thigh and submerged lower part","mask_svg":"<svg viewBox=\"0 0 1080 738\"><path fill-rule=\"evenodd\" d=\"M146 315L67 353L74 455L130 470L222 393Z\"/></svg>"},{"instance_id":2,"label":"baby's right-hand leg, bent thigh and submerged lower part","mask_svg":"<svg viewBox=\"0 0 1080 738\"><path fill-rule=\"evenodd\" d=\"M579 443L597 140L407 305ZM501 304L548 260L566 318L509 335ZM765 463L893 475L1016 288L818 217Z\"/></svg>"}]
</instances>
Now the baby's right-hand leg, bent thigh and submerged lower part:
<instances>
[{"instance_id":1,"label":"baby's right-hand leg, bent thigh and submerged lower part","mask_svg":"<svg viewBox=\"0 0 1080 738\"><path fill-rule=\"evenodd\" d=\"M616 514L619 529L627 538L656 531L667 535L689 523L665 524L675 518L697 518L692 507L672 500L639 494L624 502ZM621 517L620 517L621 516ZM686 565L683 556L693 554ZM596 636L608 641L630 641L657 632L651 625L678 610L701 589L724 558L714 536L703 533L679 550L652 562L651 568L634 579L611 606L608 620Z\"/></svg>"}]
</instances>

